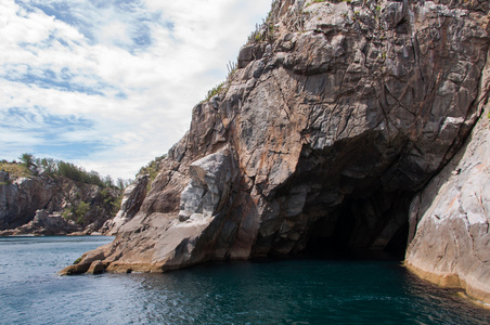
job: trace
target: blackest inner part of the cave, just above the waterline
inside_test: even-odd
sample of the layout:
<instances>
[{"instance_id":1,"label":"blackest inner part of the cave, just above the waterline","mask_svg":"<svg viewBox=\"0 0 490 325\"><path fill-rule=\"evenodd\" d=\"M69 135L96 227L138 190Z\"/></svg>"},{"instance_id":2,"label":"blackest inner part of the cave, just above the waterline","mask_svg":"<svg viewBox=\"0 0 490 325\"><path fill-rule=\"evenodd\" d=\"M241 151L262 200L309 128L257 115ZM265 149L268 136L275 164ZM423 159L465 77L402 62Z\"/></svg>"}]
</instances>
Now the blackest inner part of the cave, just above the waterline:
<instances>
[{"instance_id":1,"label":"blackest inner part of the cave, just above the waterline","mask_svg":"<svg viewBox=\"0 0 490 325\"><path fill-rule=\"evenodd\" d=\"M351 195L337 208L326 208L309 226L301 256L328 259L403 260L413 193L377 192ZM305 211L318 211L306 206Z\"/></svg>"}]
</instances>

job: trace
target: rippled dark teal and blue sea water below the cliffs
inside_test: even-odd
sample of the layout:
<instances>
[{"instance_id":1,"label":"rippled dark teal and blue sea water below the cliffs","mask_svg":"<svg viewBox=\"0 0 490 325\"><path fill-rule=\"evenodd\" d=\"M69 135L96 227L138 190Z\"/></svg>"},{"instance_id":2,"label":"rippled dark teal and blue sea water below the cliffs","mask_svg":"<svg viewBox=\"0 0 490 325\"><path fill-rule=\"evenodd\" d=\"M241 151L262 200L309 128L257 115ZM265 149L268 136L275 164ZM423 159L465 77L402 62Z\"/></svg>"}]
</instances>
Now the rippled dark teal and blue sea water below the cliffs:
<instances>
[{"instance_id":1,"label":"rippled dark teal and blue sea water below the cliffs","mask_svg":"<svg viewBox=\"0 0 490 325\"><path fill-rule=\"evenodd\" d=\"M490 324L396 261L208 263L59 276L112 237L0 237L0 324Z\"/></svg>"}]
</instances>

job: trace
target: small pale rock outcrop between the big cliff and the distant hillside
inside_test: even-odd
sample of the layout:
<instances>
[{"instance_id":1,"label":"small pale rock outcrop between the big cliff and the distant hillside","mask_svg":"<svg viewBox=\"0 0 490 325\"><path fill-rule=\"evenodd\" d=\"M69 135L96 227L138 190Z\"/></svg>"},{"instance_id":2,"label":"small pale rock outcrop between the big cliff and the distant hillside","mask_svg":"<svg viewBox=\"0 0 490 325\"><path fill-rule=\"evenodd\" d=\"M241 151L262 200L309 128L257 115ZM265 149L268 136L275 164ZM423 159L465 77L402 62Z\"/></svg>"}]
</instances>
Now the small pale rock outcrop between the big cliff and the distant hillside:
<instances>
[{"instance_id":1,"label":"small pale rock outcrop between the big cliff and the distant hillside","mask_svg":"<svg viewBox=\"0 0 490 325\"><path fill-rule=\"evenodd\" d=\"M143 204L149 181L150 176L142 174L137 177L134 182L126 187L125 193L122 194L120 209L116 217L107 220L102 226L104 233L111 236L115 235L125 223L134 217Z\"/></svg>"}]
</instances>

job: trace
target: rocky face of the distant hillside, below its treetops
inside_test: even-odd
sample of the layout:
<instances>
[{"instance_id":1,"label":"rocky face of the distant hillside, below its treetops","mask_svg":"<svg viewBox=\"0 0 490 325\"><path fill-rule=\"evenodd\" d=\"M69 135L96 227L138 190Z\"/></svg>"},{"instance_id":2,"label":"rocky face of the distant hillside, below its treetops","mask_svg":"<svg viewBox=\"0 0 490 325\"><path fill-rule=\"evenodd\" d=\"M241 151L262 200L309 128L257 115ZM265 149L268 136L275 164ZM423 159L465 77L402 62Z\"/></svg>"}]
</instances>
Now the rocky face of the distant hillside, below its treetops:
<instances>
[{"instance_id":1,"label":"rocky face of the distant hillside, below its treetops","mask_svg":"<svg viewBox=\"0 0 490 325\"><path fill-rule=\"evenodd\" d=\"M10 179L0 171L0 235L90 234L113 217L118 195L64 177Z\"/></svg>"}]
</instances>

